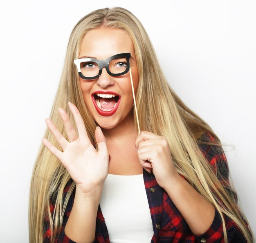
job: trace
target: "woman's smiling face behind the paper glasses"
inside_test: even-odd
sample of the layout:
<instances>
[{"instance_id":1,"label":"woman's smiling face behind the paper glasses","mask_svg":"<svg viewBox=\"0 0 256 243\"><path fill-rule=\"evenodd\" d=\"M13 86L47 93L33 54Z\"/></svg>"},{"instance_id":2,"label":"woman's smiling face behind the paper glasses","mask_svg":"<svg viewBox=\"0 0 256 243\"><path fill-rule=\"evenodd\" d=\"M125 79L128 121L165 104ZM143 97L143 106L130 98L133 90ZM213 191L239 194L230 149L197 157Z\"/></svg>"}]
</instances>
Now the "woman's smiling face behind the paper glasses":
<instances>
[{"instance_id":1,"label":"woman's smiling face behind the paper glasses","mask_svg":"<svg viewBox=\"0 0 256 243\"><path fill-rule=\"evenodd\" d=\"M136 93L139 79L137 62L132 40L125 31L108 27L88 31L83 38L79 58L105 60L121 53L131 54L130 70ZM126 59L122 58L116 63L114 60L111 65L115 69L123 70L125 62ZM89 63L85 68L93 68L93 64ZM111 76L106 68L103 68L99 77L79 80L85 105L100 127L111 129L127 120L133 121L133 116L128 116L134 103L130 72L121 76Z\"/></svg>"}]
</instances>

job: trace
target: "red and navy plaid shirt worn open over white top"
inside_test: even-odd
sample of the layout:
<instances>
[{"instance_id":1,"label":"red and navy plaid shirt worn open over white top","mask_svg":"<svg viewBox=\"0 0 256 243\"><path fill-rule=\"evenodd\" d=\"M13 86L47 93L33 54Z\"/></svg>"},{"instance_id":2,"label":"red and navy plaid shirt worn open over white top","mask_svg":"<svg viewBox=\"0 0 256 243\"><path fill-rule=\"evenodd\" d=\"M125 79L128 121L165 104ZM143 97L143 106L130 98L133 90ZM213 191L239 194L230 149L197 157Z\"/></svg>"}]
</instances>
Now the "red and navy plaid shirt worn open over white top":
<instances>
[{"instance_id":1,"label":"red and navy plaid shirt worn open over white top","mask_svg":"<svg viewBox=\"0 0 256 243\"><path fill-rule=\"evenodd\" d=\"M209 133L202 136L203 141L213 141L214 138ZM202 145L200 149L209 163L212 165L214 172L219 172L229 183L229 170L227 159L222 149L216 145ZM218 173L217 173L218 175ZM168 194L157 184L155 176L143 170L144 183L146 194L148 198L148 205L152 219L154 235L152 236L151 243L168 243L168 242L220 242L224 243L223 228L220 215L215 210L215 217L209 229L201 235L194 235L186 221L177 210ZM153 190L154 188L155 190ZM65 193L64 193L65 196ZM64 232L65 224L72 210L74 201L74 194L70 197L69 203L65 210L63 218L63 230L58 236L55 243L74 243L70 240ZM53 207L54 208L54 207ZM245 242L243 236L238 230L238 227L229 217L225 216L227 234L229 242ZM48 224L46 225L48 226ZM49 229L45 232L44 242L49 242ZM109 243L108 229L104 221L101 208L99 206L96 220L96 235L94 243Z\"/></svg>"}]
</instances>

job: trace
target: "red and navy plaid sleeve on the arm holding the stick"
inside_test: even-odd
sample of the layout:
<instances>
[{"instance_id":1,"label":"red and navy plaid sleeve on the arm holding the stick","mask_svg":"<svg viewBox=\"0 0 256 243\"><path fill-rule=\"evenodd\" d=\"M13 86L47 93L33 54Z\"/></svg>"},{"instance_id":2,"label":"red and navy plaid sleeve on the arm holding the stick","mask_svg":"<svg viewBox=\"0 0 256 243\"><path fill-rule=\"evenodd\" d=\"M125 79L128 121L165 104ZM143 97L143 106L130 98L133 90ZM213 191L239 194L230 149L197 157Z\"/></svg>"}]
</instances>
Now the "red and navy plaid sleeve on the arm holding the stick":
<instances>
[{"instance_id":1,"label":"red and navy plaid sleeve on the arm holding the stick","mask_svg":"<svg viewBox=\"0 0 256 243\"><path fill-rule=\"evenodd\" d=\"M200 144L201 150L205 158L207 158L207 161L209 161L209 163L211 164L213 171L216 173L220 183L225 187L228 193L234 195L234 198L236 199L237 202L236 193L232 191L231 188L229 187L229 167L227 164L227 158L224 154L222 147L220 145L214 145L216 139L210 133L204 134L201 138L201 141L213 143L213 145ZM234 221L232 221L225 214L223 216L226 222L229 242L246 242ZM220 218L220 214L217 210L215 210L215 217L209 229L204 234L196 236L196 240L197 242L224 243L223 225Z\"/></svg>"}]
</instances>

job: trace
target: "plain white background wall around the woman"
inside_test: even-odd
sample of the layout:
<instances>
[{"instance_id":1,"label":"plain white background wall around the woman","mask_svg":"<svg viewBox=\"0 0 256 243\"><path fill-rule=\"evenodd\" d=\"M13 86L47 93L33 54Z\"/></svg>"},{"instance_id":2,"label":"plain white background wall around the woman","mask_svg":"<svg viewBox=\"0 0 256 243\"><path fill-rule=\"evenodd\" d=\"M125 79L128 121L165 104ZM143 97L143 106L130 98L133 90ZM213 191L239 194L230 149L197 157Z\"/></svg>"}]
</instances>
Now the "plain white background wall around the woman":
<instances>
[{"instance_id":1,"label":"plain white background wall around the woman","mask_svg":"<svg viewBox=\"0 0 256 243\"><path fill-rule=\"evenodd\" d=\"M0 241L28 242L31 171L72 28L115 6L141 20L173 89L231 145L231 176L255 233L255 1L17 0L0 7Z\"/></svg>"}]
</instances>

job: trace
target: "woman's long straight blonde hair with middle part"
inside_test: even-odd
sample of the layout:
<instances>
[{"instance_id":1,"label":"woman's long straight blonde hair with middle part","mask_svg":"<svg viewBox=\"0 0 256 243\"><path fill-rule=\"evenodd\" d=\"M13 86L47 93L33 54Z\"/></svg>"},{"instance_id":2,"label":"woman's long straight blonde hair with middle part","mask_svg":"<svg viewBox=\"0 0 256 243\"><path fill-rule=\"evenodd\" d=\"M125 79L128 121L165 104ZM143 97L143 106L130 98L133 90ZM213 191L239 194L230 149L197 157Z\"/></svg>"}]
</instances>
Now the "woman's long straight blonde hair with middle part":
<instances>
[{"instance_id":1,"label":"woman's long straight blonde hair with middle part","mask_svg":"<svg viewBox=\"0 0 256 243\"><path fill-rule=\"evenodd\" d=\"M232 193L234 189L230 185L220 183L220 178L217 178L198 147L198 138L202 134L210 132L220 145L218 137L209 125L186 107L169 87L144 27L128 10L119 7L99 9L79 20L74 27L50 114L58 130L67 138L62 120L58 116L58 107L63 107L70 115L67 107L70 101L78 107L85 121L88 136L92 142L94 141L96 124L83 102L79 76L73 60L79 57L84 35L91 29L101 26L122 29L133 41L139 72L136 100L141 130L164 136L168 140L179 174L183 175L220 213L225 242L227 242L227 232L223 214L234 220L247 242L252 242L252 233L246 218L236 204L234 193ZM70 116L70 118L74 124L73 117ZM49 129L46 129L44 137L61 149ZM69 182L71 186L63 197L64 188ZM41 145L30 188L29 239L31 243L43 242L46 218L50 225L51 242L54 242L63 226L65 208L74 188L75 183L72 182L65 167ZM51 208L52 205L55 205L54 209Z\"/></svg>"}]
</instances>

